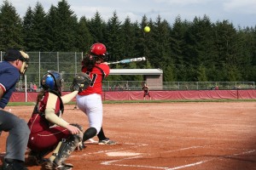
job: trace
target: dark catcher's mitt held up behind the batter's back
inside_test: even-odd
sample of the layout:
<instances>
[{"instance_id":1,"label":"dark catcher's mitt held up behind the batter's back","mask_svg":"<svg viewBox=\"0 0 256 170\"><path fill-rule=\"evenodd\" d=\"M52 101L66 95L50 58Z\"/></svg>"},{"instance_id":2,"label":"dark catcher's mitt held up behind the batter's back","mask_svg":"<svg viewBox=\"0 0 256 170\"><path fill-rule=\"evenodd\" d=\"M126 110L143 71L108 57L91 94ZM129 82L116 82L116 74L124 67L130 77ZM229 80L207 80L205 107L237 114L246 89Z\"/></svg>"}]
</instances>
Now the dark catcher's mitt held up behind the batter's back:
<instances>
[{"instance_id":1,"label":"dark catcher's mitt held up behind the batter's back","mask_svg":"<svg viewBox=\"0 0 256 170\"><path fill-rule=\"evenodd\" d=\"M70 90L82 92L84 89L90 86L90 77L84 72L78 73L74 78Z\"/></svg>"}]
</instances>

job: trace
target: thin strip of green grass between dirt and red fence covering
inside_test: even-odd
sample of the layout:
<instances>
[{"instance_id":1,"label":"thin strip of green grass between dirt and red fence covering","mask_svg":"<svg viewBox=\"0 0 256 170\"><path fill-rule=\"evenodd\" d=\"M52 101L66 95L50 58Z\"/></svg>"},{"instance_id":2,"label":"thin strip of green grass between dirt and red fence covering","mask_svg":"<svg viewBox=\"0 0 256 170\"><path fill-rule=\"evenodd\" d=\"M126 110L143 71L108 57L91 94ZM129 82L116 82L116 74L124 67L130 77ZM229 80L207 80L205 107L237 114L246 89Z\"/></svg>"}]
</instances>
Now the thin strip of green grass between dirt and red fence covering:
<instances>
[{"instance_id":1,"label":"thin strip of green grass between dirt and red fence covering","mask_svg":"<svg viewBox=\"0 0 256 170\"><path fill-rule=\"evenodd\" d=\"M103 104L118 103L173 103L173 102L250 102L256 99L177 99L177 100L105 100ZM8 106L15 105L35 105L34 102L9 102ZM75 105L75 102L69 102L67 105Z\"/></svg>"}]
</instances>

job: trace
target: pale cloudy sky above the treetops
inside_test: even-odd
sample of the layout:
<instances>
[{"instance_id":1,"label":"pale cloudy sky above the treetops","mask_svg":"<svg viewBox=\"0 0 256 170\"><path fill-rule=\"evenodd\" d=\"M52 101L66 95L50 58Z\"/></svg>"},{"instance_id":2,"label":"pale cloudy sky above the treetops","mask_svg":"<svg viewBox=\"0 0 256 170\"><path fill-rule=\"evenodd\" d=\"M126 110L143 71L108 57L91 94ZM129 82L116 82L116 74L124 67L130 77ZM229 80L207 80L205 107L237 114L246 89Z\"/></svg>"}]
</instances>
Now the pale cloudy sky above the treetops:
<instances>
[{"instance_id":1,"label":"pale cloudy sky above the treetops","mask_svg":"<svg viewBox=\"0 0 256 170\"><path fill-rule=\"evenodd\" d=\"M1 5L3 0L1 0ZM39 2L47 13L50 5L57 6L57 0L9 0L20 17L26 14L28 6ZM145 14L155 21L158 15L173 24L178 15L182 20L193 21L195 16L206 14L212 22L229 20L235 27L256 26L256 0L69 0L70 8L79 18L93 17L98 11L108 21L116 11L120 21L127 16L131 21L141 21Z\"/></svg>"}]
</instances>

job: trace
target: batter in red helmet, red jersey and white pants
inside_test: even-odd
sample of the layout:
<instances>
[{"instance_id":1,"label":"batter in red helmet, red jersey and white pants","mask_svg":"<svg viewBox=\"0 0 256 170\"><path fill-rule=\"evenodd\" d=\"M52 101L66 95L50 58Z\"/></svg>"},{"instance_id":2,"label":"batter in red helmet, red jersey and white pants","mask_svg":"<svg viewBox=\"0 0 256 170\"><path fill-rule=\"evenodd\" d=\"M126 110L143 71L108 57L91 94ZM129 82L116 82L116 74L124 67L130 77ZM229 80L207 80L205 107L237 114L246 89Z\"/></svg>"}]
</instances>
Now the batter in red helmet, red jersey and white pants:
<instances>
[{"instance_id":1,"label":"batter in red helmet, red jersey and white pants","mask_svg":"<svg viewBox=\"0 0 256 170\"><path fill-rule=\"evenodd\" d=\"M95 43L82 61L82 72L88 74L92 80L90 87L77 95L79 109L88 116L90 127L84 132L83 143L96 136L98 144L116 144L108 139L102 128L102 81L109 75L109 66L103 62L107 48L102 43Z\"/></svg>"}]
</instances>

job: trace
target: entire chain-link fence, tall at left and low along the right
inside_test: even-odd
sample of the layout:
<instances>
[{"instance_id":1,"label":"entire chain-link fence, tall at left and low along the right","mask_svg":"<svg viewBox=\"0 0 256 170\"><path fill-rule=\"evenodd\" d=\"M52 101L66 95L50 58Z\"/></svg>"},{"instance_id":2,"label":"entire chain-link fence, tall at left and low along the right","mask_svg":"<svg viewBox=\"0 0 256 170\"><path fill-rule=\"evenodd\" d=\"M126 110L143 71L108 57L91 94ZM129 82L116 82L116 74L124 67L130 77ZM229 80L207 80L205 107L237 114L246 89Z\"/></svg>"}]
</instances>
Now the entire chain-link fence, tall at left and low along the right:
<instances>
[{"instance_id":1,"label":"entire chain-link fence, tall at left and low along the right","mask_svg":"<svg viewBox=\"0 0 256 170\"><path fill-rule=\"evenodd\" d=\"M1 61L4 52L1 52ZM35 84L40 88L40 80L47 71L59 71L63 77L63 91L69 91L76 73L81 71L83 53L70 52L28 52L29 68L26 71L26 82L17 83L17 91L24 91ZM142 90L143 81L104 81L104 91ZM150 83L150 89L162 90L201 90L201 89L254 89L254 82L163 82L162 87ZM30 91L33 91L32 89Z\"/></svg>"}]
</instances>

